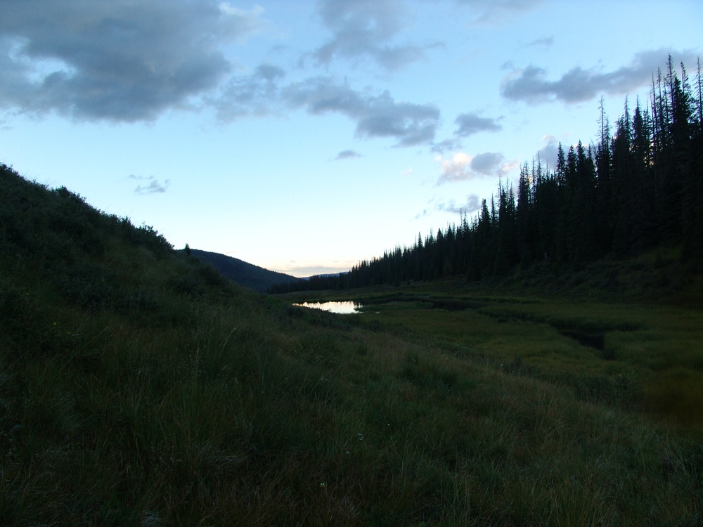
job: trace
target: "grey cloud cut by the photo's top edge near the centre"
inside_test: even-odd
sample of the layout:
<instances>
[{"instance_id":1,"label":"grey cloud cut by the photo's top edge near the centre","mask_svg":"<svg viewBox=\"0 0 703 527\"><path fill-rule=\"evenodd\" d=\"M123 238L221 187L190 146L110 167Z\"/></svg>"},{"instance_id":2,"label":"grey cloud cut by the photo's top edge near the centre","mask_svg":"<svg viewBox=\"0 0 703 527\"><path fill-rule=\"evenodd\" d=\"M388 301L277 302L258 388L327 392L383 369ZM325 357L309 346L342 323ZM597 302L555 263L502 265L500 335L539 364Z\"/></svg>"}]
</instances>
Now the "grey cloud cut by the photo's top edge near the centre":
<instances>
[{"instance_id":1,"label":"grey cloud cut by the photo's top edge near the centre","mask_svg":"<svg viewBox=\"0 0 703 527\"><path fill-rule=\"evenodd\" d=\"M396 70L424 58L423 46L391 44L408 25L402 0L323 0L318 4L323 24L333 37L314 57L329 64L335 57L370 57L387 70Z\"/></svg>"}]
</instances>

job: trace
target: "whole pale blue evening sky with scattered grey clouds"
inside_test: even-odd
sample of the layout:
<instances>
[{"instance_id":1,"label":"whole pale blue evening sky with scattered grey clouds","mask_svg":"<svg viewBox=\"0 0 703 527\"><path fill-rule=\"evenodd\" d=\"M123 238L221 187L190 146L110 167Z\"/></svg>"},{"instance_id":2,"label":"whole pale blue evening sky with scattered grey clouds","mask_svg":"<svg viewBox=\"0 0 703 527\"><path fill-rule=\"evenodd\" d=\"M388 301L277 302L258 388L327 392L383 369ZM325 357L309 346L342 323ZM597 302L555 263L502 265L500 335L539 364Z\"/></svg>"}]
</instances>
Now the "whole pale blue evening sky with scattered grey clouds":
<instances>
[{"instance_id":1,"label":"whole pale blue evening sky with scattered grey clouds","mask_svg":"<svg viewBox=\"0 0 703 527\"><path fill-rule=\"evenodd\" d=\"M700 0L1 0L0 162L176 248L347 271L597 141Z\"/></svg>"}]
</instances>

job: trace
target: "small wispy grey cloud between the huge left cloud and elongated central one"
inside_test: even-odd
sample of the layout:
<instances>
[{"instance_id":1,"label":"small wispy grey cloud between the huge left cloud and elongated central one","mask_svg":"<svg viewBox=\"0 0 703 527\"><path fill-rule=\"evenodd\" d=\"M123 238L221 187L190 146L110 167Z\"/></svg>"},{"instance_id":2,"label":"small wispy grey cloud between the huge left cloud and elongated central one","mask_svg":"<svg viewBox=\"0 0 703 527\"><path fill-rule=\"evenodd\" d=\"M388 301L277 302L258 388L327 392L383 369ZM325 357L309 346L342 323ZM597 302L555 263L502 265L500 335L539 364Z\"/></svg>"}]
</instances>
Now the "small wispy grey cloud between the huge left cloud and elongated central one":
<instances>
[{"instance_id":1,"label":"small wispy grey cloud between the huge left cloud and elongated central one","mask_svg":"<svg viewBox=\"0 0 703 527\"><path fill-rule=\"evenodd\" d=\"M273 65L262 64L250 75L237 75L230 79L219 96L209 103L217 109L221 122L231 122L240 117L262 116L272 112L278 103L278 80L285 72Z\"/></svg>"}]
</instances>

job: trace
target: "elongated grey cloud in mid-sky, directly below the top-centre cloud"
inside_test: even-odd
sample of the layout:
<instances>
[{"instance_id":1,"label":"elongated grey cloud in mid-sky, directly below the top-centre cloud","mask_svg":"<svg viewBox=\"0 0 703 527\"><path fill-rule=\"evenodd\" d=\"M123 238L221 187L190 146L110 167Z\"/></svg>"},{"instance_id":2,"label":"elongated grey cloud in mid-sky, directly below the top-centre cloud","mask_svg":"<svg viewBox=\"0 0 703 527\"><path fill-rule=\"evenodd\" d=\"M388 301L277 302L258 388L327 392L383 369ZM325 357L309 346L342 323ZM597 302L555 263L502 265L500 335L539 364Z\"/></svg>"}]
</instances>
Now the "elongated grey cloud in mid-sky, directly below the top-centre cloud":
<instances>
[{"instance_id":1,"label":"elongated grey cloud in mid-sky, directly below the top-centre cloud","mask_svg":"<svg viewBox=\"0 0 703 527\"><path fill-rule=\"evenodd\" d=\"M396 146L432 143L439 126L439 109L434 105L399 103L388 91L360 93L326 77L289 84L281 97L290 108L304 108L313 115L346 115L356 121L357 137L394 138Z\"/></svg>"}]
</instances>

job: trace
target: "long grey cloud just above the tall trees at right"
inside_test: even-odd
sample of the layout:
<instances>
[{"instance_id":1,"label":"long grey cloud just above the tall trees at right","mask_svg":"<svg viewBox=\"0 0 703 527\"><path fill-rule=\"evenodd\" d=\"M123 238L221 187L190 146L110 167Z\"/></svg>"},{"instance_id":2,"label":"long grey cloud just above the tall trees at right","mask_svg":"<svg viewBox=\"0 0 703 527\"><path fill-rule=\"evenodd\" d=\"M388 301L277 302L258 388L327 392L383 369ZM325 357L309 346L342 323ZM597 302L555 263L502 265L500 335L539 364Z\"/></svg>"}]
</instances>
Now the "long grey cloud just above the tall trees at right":
<instances>
[{"instance_id":1,"label":"long grey cloud just above the tall trees at right","mask_svg":"<svg viewBox=\"0 0 703 527\"><path fill-rule=\"evenodd\" d=\"M564 103L579 103L591 100L601 93L611 95L627 93L648 84L652 72L666 62L669 51L643 51L637 53L629 65L619 67L612 72L601 73L591 68L584 70L580 66L573 67L556 81L547 79L543 68L528 66L515 70L503 79L501 95L511 100L522 100L526 103L543 103L550 100L561 100ZM674 63L694 62L692 53L676 53Z\"/></svg>"}]
</instances>

